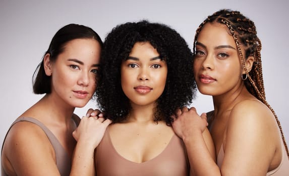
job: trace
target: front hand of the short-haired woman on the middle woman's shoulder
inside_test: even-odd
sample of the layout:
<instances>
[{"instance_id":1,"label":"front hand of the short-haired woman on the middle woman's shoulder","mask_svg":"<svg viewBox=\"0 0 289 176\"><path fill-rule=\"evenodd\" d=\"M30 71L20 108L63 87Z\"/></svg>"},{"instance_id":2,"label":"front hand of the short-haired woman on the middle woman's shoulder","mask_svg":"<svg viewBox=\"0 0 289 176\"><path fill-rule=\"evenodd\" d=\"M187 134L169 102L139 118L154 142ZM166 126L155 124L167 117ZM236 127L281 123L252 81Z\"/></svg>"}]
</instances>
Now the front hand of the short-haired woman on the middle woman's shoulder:
<instances>
[{"instance_id":1,"label":"front hand of the short-haired woman on the middle woman's shoulder","mask_svg":"<svg viewBox=\"0 0 289 176\"><path fill-rule=\"evenodd\" d=\"M103 117L83 117L77 129L72 133L77 142L84 142L96 148L100 143L106 127L112 121Z\"/></svg>"}]
</instances>

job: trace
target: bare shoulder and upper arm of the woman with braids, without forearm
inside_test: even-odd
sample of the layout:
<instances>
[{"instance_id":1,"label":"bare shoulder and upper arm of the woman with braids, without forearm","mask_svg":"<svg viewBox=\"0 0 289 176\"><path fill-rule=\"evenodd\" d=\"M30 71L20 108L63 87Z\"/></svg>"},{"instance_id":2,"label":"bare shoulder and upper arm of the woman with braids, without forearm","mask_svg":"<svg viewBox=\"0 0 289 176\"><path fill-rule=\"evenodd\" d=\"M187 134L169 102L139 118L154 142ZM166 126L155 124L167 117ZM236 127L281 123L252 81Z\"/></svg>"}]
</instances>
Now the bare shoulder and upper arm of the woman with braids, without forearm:
<instances>
[{"instance_id":1,"label":"bare shoulder and upper arm of the woman with braids, without forearm","mask_svg":"<svg viewBox=\"0 0 289 176\"><path fill-rule=\"evenodd\" d=\"M240 173L248 175L257 172L254 166L258 164L259 172L265 175L268 168L278 165L277 148L280 148L279 129L270 109L258 100L235 105L227 124L221 169L233 173L242 168Z\"/></svg>"}]
</instances>

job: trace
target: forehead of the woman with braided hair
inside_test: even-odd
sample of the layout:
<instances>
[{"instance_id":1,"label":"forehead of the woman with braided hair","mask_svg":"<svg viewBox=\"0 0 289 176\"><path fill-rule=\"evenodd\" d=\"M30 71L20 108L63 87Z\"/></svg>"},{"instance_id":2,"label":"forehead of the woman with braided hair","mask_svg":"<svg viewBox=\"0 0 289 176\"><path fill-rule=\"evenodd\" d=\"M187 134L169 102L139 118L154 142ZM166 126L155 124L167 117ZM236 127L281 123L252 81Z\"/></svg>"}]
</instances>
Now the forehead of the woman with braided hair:
<instances>
[{"instance_id":1,"label":"forehead of the woman with braided hair","mask_svg":"<svg viewBox=\"0 0 289 176\"><path fill-rule=\"evenodd\" d=\"M207 45L232 45L235 46L235 40L230 34L228 28L219 23L207 23L205 24L197 38L197 42Z\"/></svg>"}]
</instances>

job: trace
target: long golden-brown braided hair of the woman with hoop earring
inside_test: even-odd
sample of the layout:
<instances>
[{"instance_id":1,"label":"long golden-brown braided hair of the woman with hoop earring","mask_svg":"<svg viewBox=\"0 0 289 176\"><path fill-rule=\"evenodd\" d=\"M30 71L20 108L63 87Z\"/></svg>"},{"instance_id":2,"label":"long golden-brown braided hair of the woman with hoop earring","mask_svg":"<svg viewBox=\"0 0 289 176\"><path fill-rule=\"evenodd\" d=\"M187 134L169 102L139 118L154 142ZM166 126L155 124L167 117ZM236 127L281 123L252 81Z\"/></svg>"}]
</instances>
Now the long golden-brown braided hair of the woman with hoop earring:
<instances>
[{"instance_id":1,"label":"long golden-brown braided hair of the woman with hoop earring","mask_svg":"<svg viewBox=\"0 0 289 176\"><path fill-rule=\"evenodd\" d=\"M287 152L287 156L289 157L288 147L285 141L281 124L277 118L276 113L268 104L265 98L262 64L261 64L261 53L260 53L262 45L261 45L260 39L257 37L257 31L256 31L254 22L248 19L247 17L245 17L240 12L231 11L231 10L220 10L214 13L213 15L208 16L207 19L203 23L200 24L200 26L198 27L196 31L196 35L194 39L194 47L193 47L194 54L196 51L196 41L197 41L198 35L200 31L202 30L202 27L206 23L220 23L220 24L226 25L226 27L230 31L231 35L233 36L235 40L239 57L241 59L243 68L246 72L246 77L248 76L248 79L244 80L246 88L253 96L255 96L258 100L263 102L274 114L279 130L282 135L282 140L283 140L283 144L285 146L286 152ZM245 48L245 59L247 59L249 56L253 56L255 59L252 70L250 72L248 72L245 66L244 56L242 54L241 47L240 47L241 44Z\"/></svg>"}]
</instances>

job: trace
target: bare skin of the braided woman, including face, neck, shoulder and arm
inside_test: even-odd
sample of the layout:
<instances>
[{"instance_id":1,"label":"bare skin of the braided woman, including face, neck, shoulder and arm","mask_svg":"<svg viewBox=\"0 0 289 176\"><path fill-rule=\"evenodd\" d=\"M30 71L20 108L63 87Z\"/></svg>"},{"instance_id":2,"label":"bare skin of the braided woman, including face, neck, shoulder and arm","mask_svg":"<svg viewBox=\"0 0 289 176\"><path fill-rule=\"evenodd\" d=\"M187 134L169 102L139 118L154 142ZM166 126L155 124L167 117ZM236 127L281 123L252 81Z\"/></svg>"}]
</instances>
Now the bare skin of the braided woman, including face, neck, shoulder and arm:
<instances>
[{"instance_id":1,"label":"bare skin of the braided woman, including face, neck, shoulder and arm","mask_svg":"<svg viewBox=\"0 0 289 176\"><path fill-rule=\"evenodd\" d=\"M244 56L242 45L241 50ZM253 56L245 60L248 71L253 61ZM220 168L201 135L205 114L199 116L194 108L178 110L172 124L186 144L190 161L195 161L197 175L266 175L280 164L282 144L274 115L247 91L241 79L244 73L226 26L205 24L196 43L194 76L200 93L213 98L214 111L207 116L214 118L209 130L216 154L224 150Z\"/></svg>"}]
</instances>

